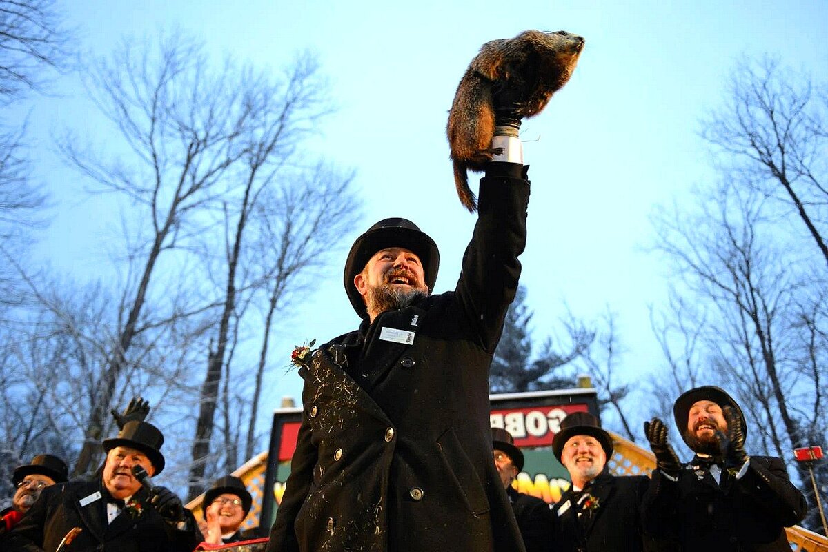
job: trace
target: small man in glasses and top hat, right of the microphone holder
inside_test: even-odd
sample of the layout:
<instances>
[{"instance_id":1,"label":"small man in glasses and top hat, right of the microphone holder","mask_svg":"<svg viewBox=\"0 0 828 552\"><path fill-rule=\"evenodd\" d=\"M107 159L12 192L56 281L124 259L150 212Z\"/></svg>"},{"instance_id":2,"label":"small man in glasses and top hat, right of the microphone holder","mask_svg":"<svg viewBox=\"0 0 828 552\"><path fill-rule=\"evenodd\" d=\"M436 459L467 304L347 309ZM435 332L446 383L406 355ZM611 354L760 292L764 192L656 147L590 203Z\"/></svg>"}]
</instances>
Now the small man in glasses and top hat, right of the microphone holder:
<instances>
[{"instance_id":1,"label":"small man in glasses and top hat, right of the microphone holder","mask_svg":"<svg viewBox=\"0 0 828 552\"><path fill-rule=\"evenodd\" d=\"M205 542L209 545L226 545L253 538L238 530L252 504L253 497L241 479L233 475L216 479L201 502L205 518L201 534L204 535Z\"/></svg>"}]
</instances>

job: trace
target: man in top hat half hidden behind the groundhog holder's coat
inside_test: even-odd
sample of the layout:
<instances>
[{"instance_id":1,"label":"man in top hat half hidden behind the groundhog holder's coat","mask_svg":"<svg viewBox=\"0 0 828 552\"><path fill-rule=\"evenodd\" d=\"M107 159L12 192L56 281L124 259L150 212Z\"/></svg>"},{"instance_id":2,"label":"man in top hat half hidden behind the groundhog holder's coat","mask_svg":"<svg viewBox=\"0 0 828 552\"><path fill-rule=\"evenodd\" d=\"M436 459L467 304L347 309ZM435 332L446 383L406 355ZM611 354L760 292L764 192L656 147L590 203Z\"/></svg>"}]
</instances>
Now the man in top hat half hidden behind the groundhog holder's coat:
<instances>
[{"instance_id":1,"label":"man in top hat half hidden behind the groundhog holder's coat","mask_svg":"<svg viewBox=\"0 0 828 552\"><path fill-rule=\"evenodd\" d=\"M523 469L523 453L514 445L514 438L507 430L492 428L494 466L498 468L500 481L512 502L517 528L527 552L549 550L552 539L552 517L549 505L540 498L530 497L512 486L517 474Z\"/></svg>"}]
</instances>

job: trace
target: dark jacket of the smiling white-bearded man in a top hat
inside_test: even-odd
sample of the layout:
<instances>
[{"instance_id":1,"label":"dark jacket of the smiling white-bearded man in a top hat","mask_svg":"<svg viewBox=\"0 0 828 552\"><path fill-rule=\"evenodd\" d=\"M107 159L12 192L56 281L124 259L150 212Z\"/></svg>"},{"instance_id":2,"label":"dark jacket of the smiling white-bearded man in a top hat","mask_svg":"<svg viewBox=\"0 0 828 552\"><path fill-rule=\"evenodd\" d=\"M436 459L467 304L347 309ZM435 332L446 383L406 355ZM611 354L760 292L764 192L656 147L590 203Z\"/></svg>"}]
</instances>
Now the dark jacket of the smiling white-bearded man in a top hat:
<instances>
[{"instance_id":1,"label":"dark jacket of the smiling white-bearded man in a top hat","mask_svg":"<svg viewBox=\"0 0 828 552\"><path fill-rule=\"evenodd\" d=\"M645 550L641 503L649 478L615 477L606 470L586 490L598 499L595 509L581 510L570 501L572 490L552 507L554 552L641 552ZM654 547L647 545L646 550Z\"/></svg>"}]
</instances>

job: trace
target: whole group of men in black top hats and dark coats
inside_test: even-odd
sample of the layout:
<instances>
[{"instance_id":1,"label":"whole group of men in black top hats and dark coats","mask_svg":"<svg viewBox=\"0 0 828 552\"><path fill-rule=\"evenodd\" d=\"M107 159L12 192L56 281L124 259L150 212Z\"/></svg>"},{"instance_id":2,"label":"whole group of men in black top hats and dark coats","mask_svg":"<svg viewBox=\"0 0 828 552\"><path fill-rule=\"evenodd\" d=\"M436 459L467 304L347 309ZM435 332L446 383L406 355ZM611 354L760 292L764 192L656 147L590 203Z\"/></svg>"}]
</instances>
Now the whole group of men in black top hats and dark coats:
<instances>
[{"instance_id":1,"label":"whole group of men in black top hats and dark coats","mask_svg":"<svg viewBox=\"0 0 828 552\"><path fill-rule=\"evenodd\" d=\"M572 45L555 55L576 57L583 40ZM652 478L616 477L609 434L575 413L552 443L572 482L561 500L550 509L513 488L524 459L511 435L489 428L489 367L527 238L521 87L510 80L481 92L493 121L469 114L493 138L469 165L485 175L455 290L431 294L440 254L406 218L375 223L351 247L344 287L361 324L294 352L302 421L268 552L790 550L784 527L805 516L802 492L779 458L747 454L742 410L714 386L675 403L690 463L653 419ZM152 482L164 439L147 410L138 401L116 414L120 431L103 440L106 460L92 479L66 481L65 464L48 455L18 468L0 549L190 552L242 539L251 498L237 478L214 483L200 522Z\"/></svg>"}]
</instances>

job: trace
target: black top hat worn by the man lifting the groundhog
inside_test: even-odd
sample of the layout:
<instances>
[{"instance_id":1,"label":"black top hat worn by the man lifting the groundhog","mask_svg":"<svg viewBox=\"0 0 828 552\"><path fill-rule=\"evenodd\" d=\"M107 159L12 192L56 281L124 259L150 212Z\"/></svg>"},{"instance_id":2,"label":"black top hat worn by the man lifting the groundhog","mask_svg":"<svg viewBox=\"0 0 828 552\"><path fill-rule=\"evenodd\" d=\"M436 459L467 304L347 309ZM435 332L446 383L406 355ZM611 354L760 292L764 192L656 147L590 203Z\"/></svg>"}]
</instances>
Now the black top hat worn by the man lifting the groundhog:
<instances>
[{"instance_id":1,"label":"black top hat worn by the man lifting the groundhog","mask_svg":"<svg viewBox=\"0 0 828 552\"><path fill-rule=\"evenodd\" d=\"M376 252L385 247L405 247L420 257L426 274L426 286L429 290L434 290L437 269L440 267L437 244L407 218L384 218L356 239L345 261L345 292L361 318L368 316L368 310L362 295L359 295L359 290L354 286L354 277L363 271Z\"/></svg>"}]
</instances>

